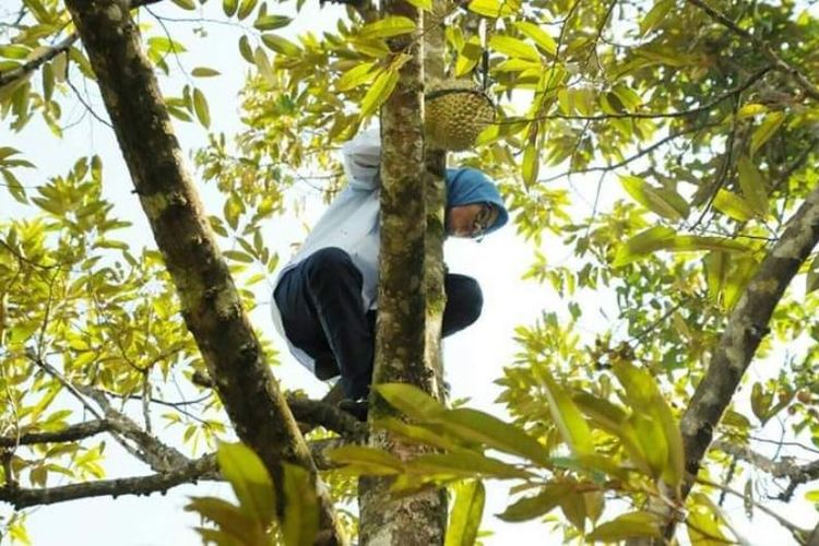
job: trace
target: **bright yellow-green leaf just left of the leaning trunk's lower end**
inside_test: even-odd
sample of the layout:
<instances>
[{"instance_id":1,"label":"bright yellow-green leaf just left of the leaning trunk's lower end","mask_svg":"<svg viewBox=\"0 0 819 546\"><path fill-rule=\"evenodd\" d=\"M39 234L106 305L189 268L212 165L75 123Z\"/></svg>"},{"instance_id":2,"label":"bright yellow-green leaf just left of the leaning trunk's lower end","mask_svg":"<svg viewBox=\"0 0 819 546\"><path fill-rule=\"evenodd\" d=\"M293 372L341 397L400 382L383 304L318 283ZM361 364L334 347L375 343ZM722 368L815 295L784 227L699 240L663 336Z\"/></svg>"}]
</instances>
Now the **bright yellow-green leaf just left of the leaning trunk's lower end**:
<instances>
[{"instance_id":1,"label":"bright yellow-green leaf just left of the leaning trunk's lower end","mask_svg":"<svg viewBox=\"0 0 819 546\"><path fill-rule=\"evenodd\" d=\"M273 521L273 483L261 459L242 443L219 442L216 461L239 499L242 512L258 522Z\"/></svg>"}]
</instances>

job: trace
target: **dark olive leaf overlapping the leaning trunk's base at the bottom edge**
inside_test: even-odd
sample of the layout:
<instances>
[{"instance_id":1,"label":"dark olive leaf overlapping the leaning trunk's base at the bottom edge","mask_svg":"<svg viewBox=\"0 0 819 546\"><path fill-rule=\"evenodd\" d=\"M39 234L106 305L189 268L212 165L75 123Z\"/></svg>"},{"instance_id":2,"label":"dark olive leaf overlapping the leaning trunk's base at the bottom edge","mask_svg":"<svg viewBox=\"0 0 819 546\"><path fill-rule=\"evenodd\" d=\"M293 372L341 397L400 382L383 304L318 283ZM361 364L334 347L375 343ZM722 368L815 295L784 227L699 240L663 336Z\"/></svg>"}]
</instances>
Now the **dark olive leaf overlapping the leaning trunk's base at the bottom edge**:
<instances>
[{"instance_id":1,"label":"dark olive leaf overlapping the leaning trunk's base at the bottom edge","mask_svg":"<svg viewBox=\"0 0 819 546\"><path fill-rule=\"evenodd\" d=\"M286 508L282 522L285 546L313 544L319 531L319 497L310 474L300 466L284 463Z\"/></svg>"}]
</instances>

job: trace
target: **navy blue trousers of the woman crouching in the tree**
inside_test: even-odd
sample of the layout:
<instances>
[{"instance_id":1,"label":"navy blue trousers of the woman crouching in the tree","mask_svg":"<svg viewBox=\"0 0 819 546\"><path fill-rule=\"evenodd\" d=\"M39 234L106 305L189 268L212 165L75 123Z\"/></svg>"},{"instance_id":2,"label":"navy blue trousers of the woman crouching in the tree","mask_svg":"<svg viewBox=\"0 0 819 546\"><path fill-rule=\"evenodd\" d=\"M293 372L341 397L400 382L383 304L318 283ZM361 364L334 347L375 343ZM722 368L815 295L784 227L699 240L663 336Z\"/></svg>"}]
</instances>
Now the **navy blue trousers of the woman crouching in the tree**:
<instances>
[{"instance_id":1,"label":"navy blue trousers of the woman crouching in the tree","mask_svg":"<svg viewBox=\"0 0 819 546\"><path fill-rule=\"evenodd\" d=\"M288 271L273 295L289 342L316 360L321 380L341 375L344 393L364 397L372 382L376 311L363 309L361 273L340 248L323 248ZM463 330L480 316L477 281L448 273L442 335Z\"/></svg>"}]
</instances>

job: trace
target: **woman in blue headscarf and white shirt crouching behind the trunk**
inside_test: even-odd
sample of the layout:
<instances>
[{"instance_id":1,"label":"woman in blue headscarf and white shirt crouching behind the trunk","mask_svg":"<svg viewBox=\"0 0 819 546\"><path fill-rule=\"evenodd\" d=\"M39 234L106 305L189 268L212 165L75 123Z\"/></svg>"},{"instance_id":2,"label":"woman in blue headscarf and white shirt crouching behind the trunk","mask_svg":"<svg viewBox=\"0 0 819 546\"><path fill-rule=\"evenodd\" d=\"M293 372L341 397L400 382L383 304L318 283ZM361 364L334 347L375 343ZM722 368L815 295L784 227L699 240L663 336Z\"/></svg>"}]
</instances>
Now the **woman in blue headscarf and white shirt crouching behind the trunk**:
<instances>
[{"instance_id":1,"label":"woman in blue headscarf and white shirt crouching behind the trunk","mask_svg":"<svg viewBox=\"0 0 819 546\"><path fill-rule=\"evenodd\" d=\"M366 416L372 380L379 254L378 129L343 149L348 186L280 272L273 321L296 359L321 380L341 376L342 407ZM480 239L509 219L495 183L474 168L447 169L447 234ZM483 295L468 276L447 273L442 335L480 316Z\"/></svg>"}]
</instances>

